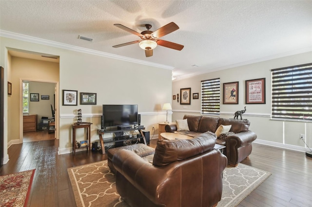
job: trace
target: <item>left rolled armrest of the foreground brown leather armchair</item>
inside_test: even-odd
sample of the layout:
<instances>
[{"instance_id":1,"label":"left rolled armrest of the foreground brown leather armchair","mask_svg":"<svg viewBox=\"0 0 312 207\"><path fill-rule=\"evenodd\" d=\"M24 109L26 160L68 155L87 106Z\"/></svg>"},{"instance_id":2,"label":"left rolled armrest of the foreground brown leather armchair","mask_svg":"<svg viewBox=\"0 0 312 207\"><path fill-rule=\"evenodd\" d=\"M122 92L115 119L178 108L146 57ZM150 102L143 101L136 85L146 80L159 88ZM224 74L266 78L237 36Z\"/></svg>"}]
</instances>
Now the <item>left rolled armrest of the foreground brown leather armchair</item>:
<instances>
[{"instance_id":1,"label":"left rolled armrest of the foreground brown leather armchair","mask_svg":"<svg viewBox=\"0 0 312 207\"><path fill-rule=\"evenodd\" d=\"M157 203L157 190L160 183L168 178L172 165L156 167L129 150L119 150L113 156L117 173L121 173L133 186ZM151 179L151 177L153 179Z\"/></svg>"}]
</instances>

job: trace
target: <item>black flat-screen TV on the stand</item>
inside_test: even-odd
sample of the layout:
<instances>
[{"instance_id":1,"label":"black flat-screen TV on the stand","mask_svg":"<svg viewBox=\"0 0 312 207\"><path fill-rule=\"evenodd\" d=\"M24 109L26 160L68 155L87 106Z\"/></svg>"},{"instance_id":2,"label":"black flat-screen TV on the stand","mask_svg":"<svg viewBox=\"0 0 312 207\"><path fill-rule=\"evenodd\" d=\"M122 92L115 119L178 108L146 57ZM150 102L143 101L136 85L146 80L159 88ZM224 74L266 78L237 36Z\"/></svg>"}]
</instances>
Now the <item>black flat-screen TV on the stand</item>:
<instances>
[{"instance_id":1,"label":"black flat-screen TV on the stand","mask_svg":"<svg viewBox=\"0 0 312 207\"><path fill-rule=\"evenodd\" d=\"M104 126L137 124L137 105L103 105Z\"/></svg>"}]
</instances>

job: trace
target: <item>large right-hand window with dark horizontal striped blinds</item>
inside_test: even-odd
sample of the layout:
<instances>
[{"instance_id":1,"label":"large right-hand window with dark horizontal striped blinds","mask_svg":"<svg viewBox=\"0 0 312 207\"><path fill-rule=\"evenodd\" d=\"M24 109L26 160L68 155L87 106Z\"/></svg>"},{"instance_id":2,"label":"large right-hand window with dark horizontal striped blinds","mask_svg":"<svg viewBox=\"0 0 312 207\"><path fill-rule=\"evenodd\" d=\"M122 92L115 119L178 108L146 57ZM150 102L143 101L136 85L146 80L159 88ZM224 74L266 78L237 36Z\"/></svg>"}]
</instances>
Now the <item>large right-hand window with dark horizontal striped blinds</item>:
<instances>
[{"instance_id":1,"label":"large right-hand window with dark horizontal striped blinds","mask_svg":"<svg viewBox=\"0 0 312 207\"><path fill-rule=\"evenodd\" d=\"M271 71L272 118L312 121L312 63Z\"/></svg>"}]
</instances>

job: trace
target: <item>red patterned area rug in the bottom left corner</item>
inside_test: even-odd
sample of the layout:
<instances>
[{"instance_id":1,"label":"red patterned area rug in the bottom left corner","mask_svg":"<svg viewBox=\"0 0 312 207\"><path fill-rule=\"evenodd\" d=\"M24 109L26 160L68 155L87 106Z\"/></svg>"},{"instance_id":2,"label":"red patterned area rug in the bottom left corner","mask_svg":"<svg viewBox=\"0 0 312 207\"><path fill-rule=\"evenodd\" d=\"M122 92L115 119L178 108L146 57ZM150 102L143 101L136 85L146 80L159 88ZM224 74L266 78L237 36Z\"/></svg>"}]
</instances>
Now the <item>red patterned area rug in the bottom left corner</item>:
<instances>
[{"instance_id":1,"label":"red patterned area rug in the bottom left corner","mask_svg":"<svg viewBox=\"0 0 312 207\"><path fill-rule=\"evenodd\" d=\"M26 207L35 170L0 176L0 207Z\"/></svg>"}]
</instances>

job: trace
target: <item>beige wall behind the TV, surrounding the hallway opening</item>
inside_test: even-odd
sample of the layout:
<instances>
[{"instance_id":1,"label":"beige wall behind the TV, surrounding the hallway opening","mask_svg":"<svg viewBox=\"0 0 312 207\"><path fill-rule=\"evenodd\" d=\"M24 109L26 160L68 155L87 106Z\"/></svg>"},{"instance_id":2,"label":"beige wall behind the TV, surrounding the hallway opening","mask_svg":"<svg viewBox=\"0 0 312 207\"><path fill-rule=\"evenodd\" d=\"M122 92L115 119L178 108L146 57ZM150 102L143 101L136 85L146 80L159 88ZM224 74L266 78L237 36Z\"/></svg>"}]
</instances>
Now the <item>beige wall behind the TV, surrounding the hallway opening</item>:
<instances>
[{"instance_id":1,"label":"beige wall behind the TV, surrounding the hallway opening","mask_svg":"<svg viewBox=\"0 0 312 207\"><path fill-rule=\"evenodd\" d=\"M138 104L141 124L154 134L152 126L165 121L161 110L163 103L171 102L172 71L138 63L117 60L90 52L76 52L37 43L0 37L0 65L8 78L9 65L7 50L20 49L60 56L59 62L59 153L69 153L72 146L72 127L77 119L77 110L82 110L82 121L93 123L91 141L98 140L102 104ZM32 78L40 78L33 74ZM62 90L97 93L97 105L62 105ZM5 97L4 101L8 101ZM5 108L8 106L5 104ZM8 113L4 119L10 119ZM171 116L168 117L171 120ZM6 124L5 124L6 125ZM9 125L9 124L8 124ZM10 126L7 127L10 129ZM83 139L78 131L78 139ZM157 135L157 129L156 133ZM7 137L7 134L5 135ZM110 134L106 136L111 136ZM17 139L17 138L15 138ZM7 140L9 143L10 140Z\"/></svg>"}]
</instances>

